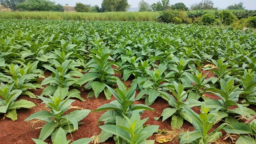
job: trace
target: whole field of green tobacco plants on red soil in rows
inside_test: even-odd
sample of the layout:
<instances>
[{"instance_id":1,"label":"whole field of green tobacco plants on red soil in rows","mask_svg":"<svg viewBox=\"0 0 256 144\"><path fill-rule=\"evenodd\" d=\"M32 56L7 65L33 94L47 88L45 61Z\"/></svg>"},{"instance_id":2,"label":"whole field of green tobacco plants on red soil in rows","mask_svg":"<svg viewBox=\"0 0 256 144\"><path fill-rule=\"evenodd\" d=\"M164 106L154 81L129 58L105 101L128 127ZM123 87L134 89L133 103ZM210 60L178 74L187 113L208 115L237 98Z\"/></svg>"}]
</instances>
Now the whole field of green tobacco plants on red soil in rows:
<instances>
[{"instance_id":1,"label":"whole field of green tobacco plants on red soil in rows","mask_svg":"<svg viewBox=\"0 0 256 144\"><path fill-rule=\"evenodd\" d=\"M0 143L254 144L256 33L0 21Z\"/></svg>"}]
</instances>

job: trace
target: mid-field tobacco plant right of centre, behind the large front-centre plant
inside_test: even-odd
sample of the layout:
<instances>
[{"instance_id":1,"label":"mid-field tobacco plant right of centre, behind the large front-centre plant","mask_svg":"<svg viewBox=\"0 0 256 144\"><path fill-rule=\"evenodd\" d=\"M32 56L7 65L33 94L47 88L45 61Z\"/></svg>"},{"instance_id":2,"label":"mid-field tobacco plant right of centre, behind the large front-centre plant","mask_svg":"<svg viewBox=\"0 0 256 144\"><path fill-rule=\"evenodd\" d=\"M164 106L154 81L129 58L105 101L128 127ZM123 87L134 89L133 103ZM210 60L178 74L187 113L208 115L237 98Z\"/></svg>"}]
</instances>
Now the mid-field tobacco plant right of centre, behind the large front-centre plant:
<instances>
[{"instance_id":1,"label":"mid-field tobacco plant right of centre, behind the large front-centre plant","mask_svg":"<svg viewBox=\"0 0 256 144\"><path fill-rule=\"evenodd\" d=\"M166 76L163 74L167 69L166 66L166 64L162 63L158 66L157 69L154 68L154 71L146 70L148 73L148 80L141 82L144 89L141 90L135 100L139 100L144 95L148 95L144 98L146 98L145 104L149 106L154 103L155 99L160 95L161 91L169 90L168 87L171 87L168 83L169 80L167 80Z\"/></svg>"}]
</instances>

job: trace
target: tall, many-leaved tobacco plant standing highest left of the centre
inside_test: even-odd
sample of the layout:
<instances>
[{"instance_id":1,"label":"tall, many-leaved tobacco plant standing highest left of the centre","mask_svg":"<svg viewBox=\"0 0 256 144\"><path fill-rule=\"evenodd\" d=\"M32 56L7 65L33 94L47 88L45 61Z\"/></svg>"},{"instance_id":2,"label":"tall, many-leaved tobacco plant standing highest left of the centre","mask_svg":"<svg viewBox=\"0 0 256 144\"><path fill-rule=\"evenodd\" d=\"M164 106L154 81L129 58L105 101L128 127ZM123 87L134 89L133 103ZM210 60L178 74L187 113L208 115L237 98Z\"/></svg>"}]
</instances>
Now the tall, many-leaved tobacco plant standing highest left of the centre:
<instances>
[{"instance_id":1,"label":"tall, many-leaved tobacco plant standing highest left of the centre","mask_svg":"<svg viewBox=\"0 0 256 144\"><path fill-rule=\"evenodd\" d=\"M101 44L97 46L98 49L91 49L90 57L92 59L86 64L86 68L83 70L83 72L87 73L81 76L76 84L83 85L88 82L84 87L86 89L93 89L93 91L88 94L88 97L95 96L97 98L99 94L104 91L107 100L110 100L111 93L105 85L113 86L113 84L119 80L118 77L112 75L114 75L115 72L120 72L111 67L112 64L119 67L119 64L114 61L110 62L110 60L113 59L110 57L111 53L109 47L104 47Z\"/></svg>"}]
</instances>

